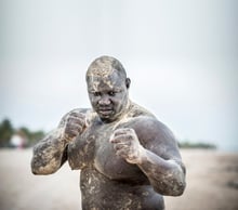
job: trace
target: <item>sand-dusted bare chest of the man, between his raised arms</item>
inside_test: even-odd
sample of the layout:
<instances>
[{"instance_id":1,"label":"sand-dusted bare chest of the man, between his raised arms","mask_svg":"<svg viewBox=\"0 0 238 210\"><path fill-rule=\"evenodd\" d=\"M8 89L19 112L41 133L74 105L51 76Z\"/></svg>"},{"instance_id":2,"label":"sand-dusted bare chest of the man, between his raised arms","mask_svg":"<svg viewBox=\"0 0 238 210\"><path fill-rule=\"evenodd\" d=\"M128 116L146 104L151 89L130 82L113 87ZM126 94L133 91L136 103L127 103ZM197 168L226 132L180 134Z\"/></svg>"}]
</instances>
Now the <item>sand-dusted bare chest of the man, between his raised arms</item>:
<instances>
[{"instance_id":1,"label":"sand-dusted bare chest of the man, between his raised arms","mask_svg":"<svg viewBox=\"0 0 238 210\"><path fill-rule=\"evenodd\" d=\"M109 142L115 124L88 128L69 147L68 160L72 169L95 168L110 180L134 179L141 174L137 166L116 155Z\"/></svg>"}]
</instances>

